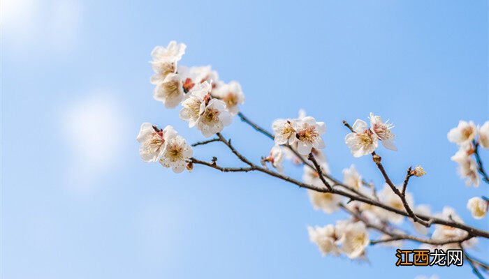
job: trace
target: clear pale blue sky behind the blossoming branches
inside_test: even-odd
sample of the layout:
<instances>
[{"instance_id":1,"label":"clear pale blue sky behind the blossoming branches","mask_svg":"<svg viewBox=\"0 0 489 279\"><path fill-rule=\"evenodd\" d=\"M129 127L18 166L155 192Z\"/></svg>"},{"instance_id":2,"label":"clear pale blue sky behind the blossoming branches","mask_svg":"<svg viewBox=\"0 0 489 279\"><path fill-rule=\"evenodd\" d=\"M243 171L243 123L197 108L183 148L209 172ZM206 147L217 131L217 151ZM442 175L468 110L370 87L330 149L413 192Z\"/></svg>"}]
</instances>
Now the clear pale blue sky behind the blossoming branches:
<instances>
[{"instance_id":1,"label":"clear pale blue sky behind the blossoming branches","mask_svg":"<svg viewBox=\"0 0 489 279\"><path fill-rule=\"evenodd\" d=\"M2 1L2 278L467 278L467 266L395 267L392 248L370 247L370 264L321 257L305 228L345 216L314 211L304 190L139 158L142 122L202 139L152 98L149 53L177 40L183 65L238 80L242 111L263 126L300 108L325 121L336 176L354 163L381 186L370 159L344 145L341 121L391 119L399 151L379 149L391 177L423 165L409 186L416 203L489 229L465 209L488 187L465 187L446 140L459 119L489 116L488 3L371 2ZM255 160L272 146L238 119L223 133ZM194 154L239 164L223 150ZM488 251L481 241L472 254Z\"/></svg>"}]
</instances>

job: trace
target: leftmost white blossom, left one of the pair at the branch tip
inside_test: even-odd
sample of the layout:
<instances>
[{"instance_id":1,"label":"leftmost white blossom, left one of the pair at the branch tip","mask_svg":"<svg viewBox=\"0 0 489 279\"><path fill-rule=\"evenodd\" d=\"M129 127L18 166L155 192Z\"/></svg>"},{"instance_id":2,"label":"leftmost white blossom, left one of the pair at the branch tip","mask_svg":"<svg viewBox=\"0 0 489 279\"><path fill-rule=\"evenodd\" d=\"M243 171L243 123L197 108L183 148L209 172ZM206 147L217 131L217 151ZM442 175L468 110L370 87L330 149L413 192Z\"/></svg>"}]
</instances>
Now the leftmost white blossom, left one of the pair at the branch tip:
<instances>
[{"instance_id":1,"label":"leftmost white blossom, left one of the pair at the branch tip","mask_svg":"<svg viewBox=\"0 0 489 279\"><path fill-rule=\"evenodd\" d=\"M166 143L177 132L172 126L166 126L163 130L156 130L151 123L143 123L136 140L140 142L139 154L145 162L156 162L163 153Z\"/></svg>"}]
</instances>

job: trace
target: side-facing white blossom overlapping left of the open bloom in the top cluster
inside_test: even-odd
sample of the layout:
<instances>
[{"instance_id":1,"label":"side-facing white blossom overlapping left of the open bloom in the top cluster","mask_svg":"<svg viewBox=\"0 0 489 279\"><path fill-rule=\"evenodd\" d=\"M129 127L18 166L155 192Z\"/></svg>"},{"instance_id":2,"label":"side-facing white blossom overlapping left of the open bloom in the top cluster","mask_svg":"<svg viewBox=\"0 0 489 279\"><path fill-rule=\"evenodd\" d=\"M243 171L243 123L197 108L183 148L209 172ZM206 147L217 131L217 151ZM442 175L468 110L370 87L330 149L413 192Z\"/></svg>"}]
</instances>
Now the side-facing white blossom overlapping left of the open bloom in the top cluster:
<instances>
[{"instance_id":1,"label":"side-facing white blossom overlapping left of the open bloom in the top cluster","mask_svg":"<svg viewBox=\"0 0 489 279\"><path fill-rule=\"evenodd\" d=\"M200 116L200 107L205 103L204 98L208 96L211 90L212 87L208 82L197 84L189 93L188 98L182 102L180 119L189 121L189 128L196 125L198 117Z\"/></svg>"}]
</instances>

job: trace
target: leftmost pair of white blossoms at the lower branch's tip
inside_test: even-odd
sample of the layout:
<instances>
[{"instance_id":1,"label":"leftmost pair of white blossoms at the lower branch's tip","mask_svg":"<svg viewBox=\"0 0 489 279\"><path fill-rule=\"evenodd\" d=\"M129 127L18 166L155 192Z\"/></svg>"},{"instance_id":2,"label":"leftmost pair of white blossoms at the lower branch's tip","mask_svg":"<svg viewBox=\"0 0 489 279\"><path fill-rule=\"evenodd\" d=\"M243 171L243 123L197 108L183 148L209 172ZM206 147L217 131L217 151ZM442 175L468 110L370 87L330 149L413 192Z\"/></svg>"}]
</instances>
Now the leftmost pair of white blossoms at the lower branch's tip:
<instances>
[{"instance_id":1,"label":"leftmost pair of white blossoms at the lower branch's tip","mask_svg":"<svg viewBox=\"0 0 489 279\"><path fill-rule=\"evenodd\" d=\"M192 148L172 126L160 130L151 123L143 123L137 137L139 153L145 162L159 161L163 167L171 167L173 172L183 172L187 160L192 156Z\"/></svg>"}]
</instances>

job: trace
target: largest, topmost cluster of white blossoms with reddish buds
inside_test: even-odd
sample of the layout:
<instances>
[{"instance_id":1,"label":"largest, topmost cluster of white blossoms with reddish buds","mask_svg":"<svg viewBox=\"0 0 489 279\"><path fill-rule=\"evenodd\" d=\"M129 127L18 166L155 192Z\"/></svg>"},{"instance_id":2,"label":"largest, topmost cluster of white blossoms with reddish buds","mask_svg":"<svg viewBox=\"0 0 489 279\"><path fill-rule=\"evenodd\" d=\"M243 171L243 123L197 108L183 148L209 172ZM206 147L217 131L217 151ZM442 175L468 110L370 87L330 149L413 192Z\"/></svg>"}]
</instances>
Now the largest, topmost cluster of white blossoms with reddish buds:
<instances>
[{"instance_id":1,"label":"largest, topmost cluster of white blossoms with reddish buds","mask_svg":"<svg viewBox=\"0 0 489 279\"><path fill-rule=\"evenodd\" d=\"M210 137L231 123L239 111L238 105L245 103L245 95L238 82L222 82L210 66L177 66L186 48L175 41L168 47L154 48L153 97L168 108L181 104L180 118L204 137Z\"/></svg>"}]
</instances>

